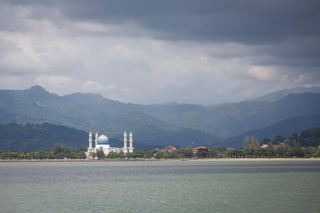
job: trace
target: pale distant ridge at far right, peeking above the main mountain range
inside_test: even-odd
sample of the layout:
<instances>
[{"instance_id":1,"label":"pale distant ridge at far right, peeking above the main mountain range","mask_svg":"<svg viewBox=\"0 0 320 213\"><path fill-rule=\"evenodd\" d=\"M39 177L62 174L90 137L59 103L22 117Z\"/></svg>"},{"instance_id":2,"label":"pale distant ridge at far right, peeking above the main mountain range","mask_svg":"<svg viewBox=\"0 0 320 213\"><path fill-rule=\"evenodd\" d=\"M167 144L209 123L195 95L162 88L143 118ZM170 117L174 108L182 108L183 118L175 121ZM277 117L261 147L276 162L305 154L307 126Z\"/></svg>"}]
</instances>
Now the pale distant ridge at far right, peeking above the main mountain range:
<instances>
[{"instance_id":1,"label":"pale distant ridge at far right, peeking above the main mountain range","mask_svg":"<svg viewBox=\"0 0 320 213\"><path fill-rule=\"evenodd\" d=\"M284 90L279 90L279 91L275 91L275 92L271 92L267 95L261 96L259 98L255 98L255 99L250 99L250 100L244 100L244 101L263 101L263 100L267 100L267 101L277 101L279 99L282 99L283 97L291 94L291 93L295 93L295 94L300 94L300 93L304 93L304 92L312 92L312 93L320 93L320 87L296 87L296 88L291 88L291 89L284 89Z\"/></svg>"}]
</instances>

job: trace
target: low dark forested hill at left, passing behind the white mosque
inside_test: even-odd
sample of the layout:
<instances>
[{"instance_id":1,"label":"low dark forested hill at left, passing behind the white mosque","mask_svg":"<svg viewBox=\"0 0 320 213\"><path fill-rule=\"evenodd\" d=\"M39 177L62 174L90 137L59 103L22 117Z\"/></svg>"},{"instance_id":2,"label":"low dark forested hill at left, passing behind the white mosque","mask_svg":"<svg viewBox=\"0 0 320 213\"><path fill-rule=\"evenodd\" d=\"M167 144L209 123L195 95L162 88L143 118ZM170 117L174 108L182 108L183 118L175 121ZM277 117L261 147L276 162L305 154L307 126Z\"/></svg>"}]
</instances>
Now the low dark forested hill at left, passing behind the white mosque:
<instances>
[{"instance_id":1,"label":"low dark forested hill at left, passing behind the white mosque","mask_svg":"<svg viewBox=\"0 0 320 213\"><path fill-rule=\"evenodd\" d=\"M99 134L101 135L101 134ZM63 125L50 123L42 124L0 124L0 150L17 152L51 151L55 143L60 143L71 148L84 148L89 146L89 132L68 128ZM123 139L109 138L111 147L123 147ZM92 135L92 146L94 147L95 134ZM129 143L129 142L128 142ZM133 140L135 150L164 148L162 145L145 145ZM176 146L179 148L180 146Z\"/></svg>"}]
</instances>

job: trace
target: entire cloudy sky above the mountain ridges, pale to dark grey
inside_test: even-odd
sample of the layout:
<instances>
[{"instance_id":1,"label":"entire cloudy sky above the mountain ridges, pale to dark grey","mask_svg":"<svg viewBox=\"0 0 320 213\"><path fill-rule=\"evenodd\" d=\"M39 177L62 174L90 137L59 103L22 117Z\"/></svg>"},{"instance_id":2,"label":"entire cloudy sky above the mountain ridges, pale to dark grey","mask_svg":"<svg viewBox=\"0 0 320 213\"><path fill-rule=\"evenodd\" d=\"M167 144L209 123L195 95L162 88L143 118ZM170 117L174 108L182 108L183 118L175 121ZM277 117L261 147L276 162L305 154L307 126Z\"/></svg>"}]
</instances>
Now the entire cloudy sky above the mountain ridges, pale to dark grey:
<instances>
[{"instance_id":1,"label":"entire cloudy sky above the mountain ridges, pale to dark grey","mask_svg":"<svg viewBox=\"0 0 320 213\"><path fill-rule=\"evenodd\" d=\"M216 104L320 86L320 1L1 1L0 89Z\"/></svg>"}]
</instances>

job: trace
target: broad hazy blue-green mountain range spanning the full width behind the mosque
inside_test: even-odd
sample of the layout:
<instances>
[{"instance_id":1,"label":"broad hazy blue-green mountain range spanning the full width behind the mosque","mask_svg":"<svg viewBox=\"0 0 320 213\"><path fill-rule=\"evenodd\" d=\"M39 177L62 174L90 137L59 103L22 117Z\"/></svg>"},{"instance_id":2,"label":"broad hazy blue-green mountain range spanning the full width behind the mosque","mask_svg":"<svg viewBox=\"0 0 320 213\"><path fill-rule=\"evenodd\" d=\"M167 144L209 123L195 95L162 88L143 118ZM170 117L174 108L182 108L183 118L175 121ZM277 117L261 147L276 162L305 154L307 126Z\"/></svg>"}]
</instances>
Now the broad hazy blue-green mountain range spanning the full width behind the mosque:
<instances>
[{"instance_id":1,"label":"broad hazy blue-green mountain range spanning the full width behind the mosque","mask_svg":"<svg viewBox=\"0 0 320 213\"><path fill-rule=\"evenodd\" d=\"M122 138L134 132L141 144L187 146L261 129L294 116L320 114L320 94L289 94L275 102L243 101L214 106L168 103L126 104L93 93L59 96L40 86L27 90L0 91L0 123L16 122L66 125ZM222 139L221 139L222 138Z\"/></svg>"}]
</instances>

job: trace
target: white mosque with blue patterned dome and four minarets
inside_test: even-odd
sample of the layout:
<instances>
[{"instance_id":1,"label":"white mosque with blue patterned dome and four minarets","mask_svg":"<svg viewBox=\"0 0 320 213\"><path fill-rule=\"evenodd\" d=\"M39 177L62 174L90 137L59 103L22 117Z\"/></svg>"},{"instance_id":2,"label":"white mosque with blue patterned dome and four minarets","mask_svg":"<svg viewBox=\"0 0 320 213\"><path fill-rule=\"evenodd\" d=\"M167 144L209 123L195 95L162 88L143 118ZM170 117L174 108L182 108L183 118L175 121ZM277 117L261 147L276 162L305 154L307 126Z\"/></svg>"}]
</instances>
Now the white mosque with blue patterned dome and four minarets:
<instances>
[{"instance_id":1,"label":"white mosque with blue patterned dome and four minarets","mask_svg":"<svg viewBox=\"0 0 320 213\"><path fill-rule=\"evenodd\" d=\"M96 146L93 148L92 147L92 132L89 132L89 147L88 147L88 152L85 152L85 154L87 155L87 157L89 157L91 152L95 152L97 149L99 149L100 147L102 147L102 150L104 152L104 154L108 154L109 152L124 152L124 154L126 154L127 152L133 152L133 147L132 147L132 132L130 132L130 139L129 139L129 147L127 147L127 132L124 131L124 147L122 148L116 148L116 147L111 147L109 145L109 138L105 135L100 135L98 137L98 132L96 132L95 135L95 143Z\"/></svg>"}]
</instances>

